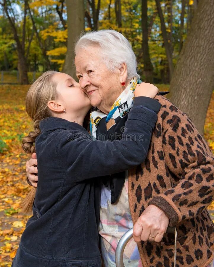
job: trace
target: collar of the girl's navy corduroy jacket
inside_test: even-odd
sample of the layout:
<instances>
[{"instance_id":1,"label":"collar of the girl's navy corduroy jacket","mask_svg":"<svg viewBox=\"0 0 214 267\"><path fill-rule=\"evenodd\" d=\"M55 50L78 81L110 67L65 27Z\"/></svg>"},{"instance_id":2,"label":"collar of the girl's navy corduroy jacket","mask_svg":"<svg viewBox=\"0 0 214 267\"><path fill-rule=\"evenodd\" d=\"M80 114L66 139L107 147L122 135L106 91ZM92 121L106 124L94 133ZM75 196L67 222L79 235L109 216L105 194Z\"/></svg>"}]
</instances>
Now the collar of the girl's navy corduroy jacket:
<instances>
[{"instance_id":1,"label":"collar of the girl's navy corduroy jacket","mask_svg":"<svg viewBox=\"0 0 214 267\"><path fill-rule=\"evenodd\" d=\"M86 131L85 128L83 128L81 125L78 123L70 122L65 119L61 118L56 118L56 117L48 117L40 121L39 123L39 128L41 132L47 132L47 131L53 131L57 129L71 129L71 130L78 130L81 132L88 132Z\"/></svg>"}]
</instances>

